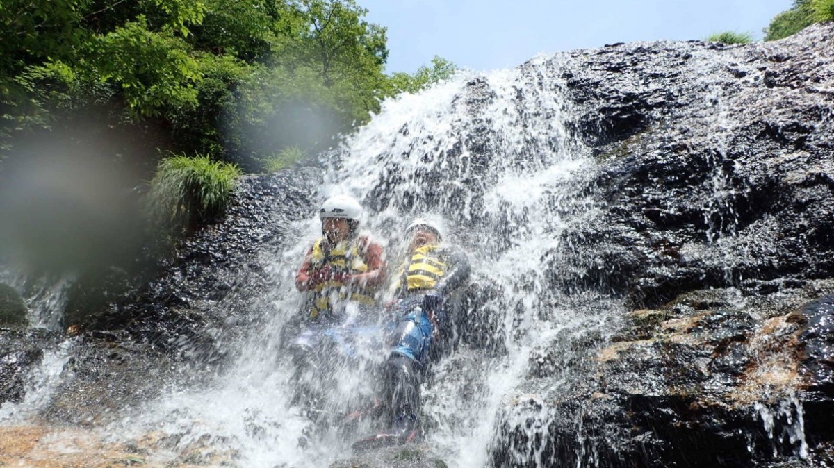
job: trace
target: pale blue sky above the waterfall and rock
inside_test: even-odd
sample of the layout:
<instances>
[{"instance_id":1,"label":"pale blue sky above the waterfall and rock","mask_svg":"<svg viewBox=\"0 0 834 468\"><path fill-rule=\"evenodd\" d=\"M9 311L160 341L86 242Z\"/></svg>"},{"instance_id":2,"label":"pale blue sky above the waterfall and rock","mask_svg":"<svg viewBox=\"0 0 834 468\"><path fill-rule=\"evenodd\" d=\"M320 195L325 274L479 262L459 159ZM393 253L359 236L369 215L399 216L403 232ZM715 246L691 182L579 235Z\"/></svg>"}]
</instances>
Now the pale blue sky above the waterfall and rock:
<instances>
[{"instance_id":1,"label":"pale blue sky above the waterfall and rock","mask_svg":"<svg viewBox=\"0 0 834 468\"><path fill-rule=\"evenodd\" d=\"M388 72L435 55L475 70L515 67L539 52L614 42L703 39L761 29L791 0L357 0L388 27Z\"/></svg>"}]
</instances>

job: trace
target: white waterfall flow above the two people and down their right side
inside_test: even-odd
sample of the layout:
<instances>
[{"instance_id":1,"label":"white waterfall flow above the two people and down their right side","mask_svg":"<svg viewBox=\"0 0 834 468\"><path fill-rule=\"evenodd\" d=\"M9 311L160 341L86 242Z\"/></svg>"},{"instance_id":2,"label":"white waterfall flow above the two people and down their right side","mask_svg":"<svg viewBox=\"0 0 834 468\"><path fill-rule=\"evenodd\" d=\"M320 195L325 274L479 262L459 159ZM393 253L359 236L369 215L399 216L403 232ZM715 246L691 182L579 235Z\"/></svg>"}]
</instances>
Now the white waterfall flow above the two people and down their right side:
<instances>
[{"instance_id":1,"label":"white waterfall flow above the two people and down their right side","mask_svg":"<svg viewBox=\"0 0 834 468\"><path fill-rule=\"evenodd\" d=\"M607 318L551 281L564 267L565 230L595 216L583 191L594 166L565 127L560 66L540 58L390 102L348 142L327 187L374 207L370 225L392 246L409 217L444 219L473 261L483 293L466 311L475 320L457 330L465 346L425 389L430 443L456 466L485 466L500 406L517 397L535 351Z\"/></svg>"}]
</instances>

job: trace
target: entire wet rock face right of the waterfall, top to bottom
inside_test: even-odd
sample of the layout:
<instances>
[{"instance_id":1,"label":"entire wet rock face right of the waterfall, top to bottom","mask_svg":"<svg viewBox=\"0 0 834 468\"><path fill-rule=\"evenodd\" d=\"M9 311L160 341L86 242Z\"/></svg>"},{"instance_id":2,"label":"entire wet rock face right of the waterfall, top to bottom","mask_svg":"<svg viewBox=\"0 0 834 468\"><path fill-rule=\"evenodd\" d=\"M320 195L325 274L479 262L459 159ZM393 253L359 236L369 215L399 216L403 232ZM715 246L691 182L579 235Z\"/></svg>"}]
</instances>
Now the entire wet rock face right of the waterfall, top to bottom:
<instances>
[{"instance_id":1,"label":"entire wet rock face right of the waterfall, top to bottom","mask_svg":"<svg viewBox=\"0 0 834 468\"><path fill-rule=\"evenodd\" d=\"M531 361L492 465L826 466L834 24L571 57L570 125L600 162L600 217L565 234L553 284L634 311L570 385L553 359Z\"/></svg>"}]
</instances>

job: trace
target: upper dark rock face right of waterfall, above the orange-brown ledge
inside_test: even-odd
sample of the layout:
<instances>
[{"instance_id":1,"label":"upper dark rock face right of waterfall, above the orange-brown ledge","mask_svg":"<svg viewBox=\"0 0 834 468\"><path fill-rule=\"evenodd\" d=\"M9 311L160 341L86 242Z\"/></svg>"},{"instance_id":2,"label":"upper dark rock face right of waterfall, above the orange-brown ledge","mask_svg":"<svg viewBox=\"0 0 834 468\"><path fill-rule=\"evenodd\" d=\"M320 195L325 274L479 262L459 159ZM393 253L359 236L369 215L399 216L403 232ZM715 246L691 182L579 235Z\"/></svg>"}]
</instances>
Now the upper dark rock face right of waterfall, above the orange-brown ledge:
<instances>
[{"instance_id":1,"label":"upper dark rock face right of waterfall, above the orange-brown ledge","mask_svg":"<svg viewBox=\"0 0 834 468\"><path fill-rule=\"evenodd\" d=\"M779 42L573 52L572 126L600 161L603 222L561 284L636 307L746 278L834 272L834 27ZM584 110L582 110L584 109Z\"/></svg>"}]
</instances>

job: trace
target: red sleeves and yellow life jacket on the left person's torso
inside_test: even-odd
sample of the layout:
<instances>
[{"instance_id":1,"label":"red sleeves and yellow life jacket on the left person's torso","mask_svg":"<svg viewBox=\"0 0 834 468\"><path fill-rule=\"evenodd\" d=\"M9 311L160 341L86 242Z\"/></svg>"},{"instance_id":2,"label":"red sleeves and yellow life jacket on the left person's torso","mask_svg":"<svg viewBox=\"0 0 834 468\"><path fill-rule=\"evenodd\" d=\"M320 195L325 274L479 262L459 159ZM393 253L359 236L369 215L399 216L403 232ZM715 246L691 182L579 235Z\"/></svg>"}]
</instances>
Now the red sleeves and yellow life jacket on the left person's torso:
<instances>
[{"instance_id":1,"label":"red sleeves and yellow life jacket on the left person's torso","mask_svg":"<svg viewBox=\"0 0 834 468\"><path fill-rule=\"evenodd\" d=\"M310 291L309 317L334 315L338 301L375 304L374 293L385 280L382 246L368 236L331 243L321 237L310 247L295 276L299 291Z\"/></svg>"}]
</instances>

